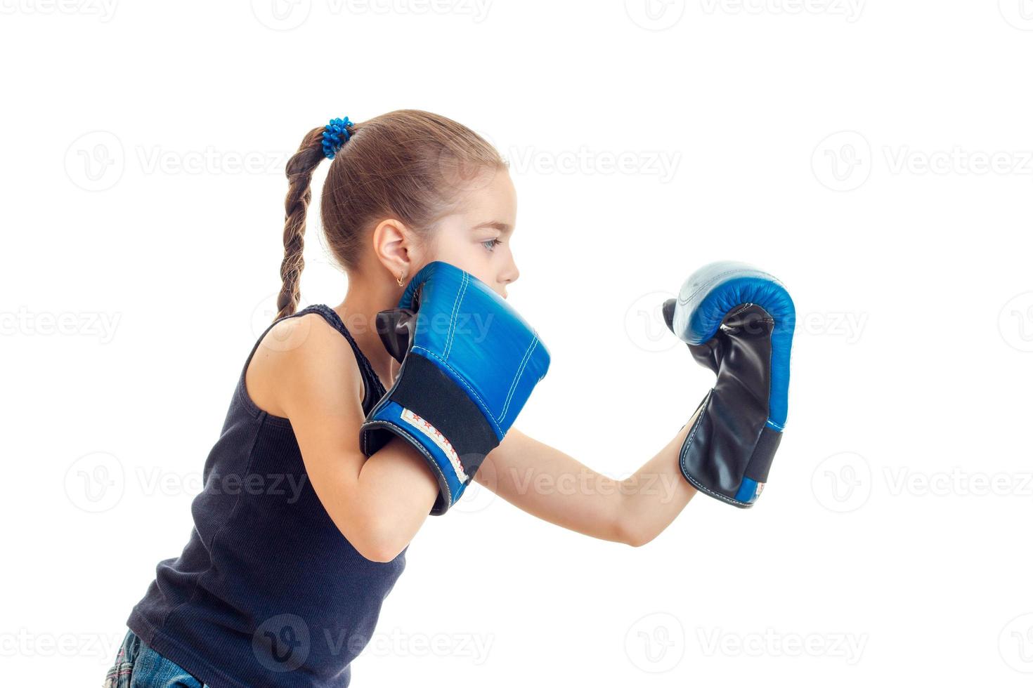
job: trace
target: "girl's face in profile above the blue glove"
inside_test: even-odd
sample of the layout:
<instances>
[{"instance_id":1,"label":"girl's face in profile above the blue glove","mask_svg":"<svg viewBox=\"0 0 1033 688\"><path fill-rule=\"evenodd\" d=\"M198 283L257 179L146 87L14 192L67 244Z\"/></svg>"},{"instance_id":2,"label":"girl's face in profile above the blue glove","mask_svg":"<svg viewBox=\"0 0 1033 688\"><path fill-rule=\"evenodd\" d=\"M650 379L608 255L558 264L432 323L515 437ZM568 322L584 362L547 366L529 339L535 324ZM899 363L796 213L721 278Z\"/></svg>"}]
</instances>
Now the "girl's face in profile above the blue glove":
<instances>
[{"instance_id":1,"label":"girl's face in profile above the blue glove","mask_svg":"<svg viewBox=\"0 0 1033 688\"><path fill-rule=\"evenodd\" d=\"M516 190L505 169L484 173L471 187L463 206L441 220L427 262L450 263L506 298L506 288L520 276L509 243Z\"/></svg>"}]
</instances>

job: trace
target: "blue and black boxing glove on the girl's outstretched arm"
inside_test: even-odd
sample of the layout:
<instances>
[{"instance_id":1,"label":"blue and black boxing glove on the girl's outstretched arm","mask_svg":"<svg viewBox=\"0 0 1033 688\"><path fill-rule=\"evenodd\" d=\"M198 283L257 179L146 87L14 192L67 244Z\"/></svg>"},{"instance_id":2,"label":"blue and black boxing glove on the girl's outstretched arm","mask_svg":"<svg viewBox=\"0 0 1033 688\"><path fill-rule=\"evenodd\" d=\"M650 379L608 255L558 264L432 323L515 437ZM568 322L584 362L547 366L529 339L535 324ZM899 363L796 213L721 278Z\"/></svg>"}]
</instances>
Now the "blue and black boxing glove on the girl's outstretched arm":
<instances>
[{"instance_id":1,"label":"blue and black boxing glove on the girl's outstretched arm","mask_svg":"<svg viewBox=\"0 0 1033 688\"><path fill-rule=\"evenodd\" d=\"M663 319L717 373L682 445L682 474L700 492L752 506L785 427L792 299L766 272L721 261L693 272L663 303Z\"/></svg>"}]
</instances>

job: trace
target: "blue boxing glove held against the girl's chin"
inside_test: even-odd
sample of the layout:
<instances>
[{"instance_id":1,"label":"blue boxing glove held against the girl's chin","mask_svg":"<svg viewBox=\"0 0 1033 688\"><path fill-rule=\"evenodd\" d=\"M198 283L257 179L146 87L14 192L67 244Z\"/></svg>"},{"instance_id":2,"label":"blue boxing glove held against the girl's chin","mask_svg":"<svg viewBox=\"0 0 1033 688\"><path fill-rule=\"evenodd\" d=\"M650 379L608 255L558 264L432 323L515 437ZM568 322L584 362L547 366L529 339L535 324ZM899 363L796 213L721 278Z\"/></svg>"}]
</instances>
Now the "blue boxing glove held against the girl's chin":
<instances>
[{"instance_id":1,"label":"blue boxing glove held against the girl's chin","mask_svg":"<svg viewBox=\"0 0 1033 688\"><path fill-rule=\"evenodd\" d=\"M505 299L442 261L377 314L377 332L402 367L363 422L359 446L370 456L394 435L412 445L437 476L431 515L440 516L545 376L549 350Z\"/></svg>"}]
</instances>

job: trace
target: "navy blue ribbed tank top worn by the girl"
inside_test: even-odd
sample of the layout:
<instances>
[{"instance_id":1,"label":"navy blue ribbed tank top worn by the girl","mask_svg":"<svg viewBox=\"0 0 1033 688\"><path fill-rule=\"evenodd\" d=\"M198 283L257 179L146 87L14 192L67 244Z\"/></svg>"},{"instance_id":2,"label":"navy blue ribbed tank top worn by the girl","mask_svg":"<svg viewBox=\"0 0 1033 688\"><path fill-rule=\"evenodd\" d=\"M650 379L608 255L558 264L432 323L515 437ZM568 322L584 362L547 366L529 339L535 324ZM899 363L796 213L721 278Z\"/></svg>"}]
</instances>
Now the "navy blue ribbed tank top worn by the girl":
<instances>
[{"instance_id":1,"label":"navy blue ribbed tank top worn by the girl","mask_svg":"<svg viewBox=\"0 0 1033 688\"><path fill-rule=\"evenodd\" d=\"M369 414L385 394L380 379L333 308L320 303L287 317L308 313L351 345ZM205 462L190 539L178 558L158 563L128 626L212 688L343 688L408 547L392 561L371 561L334 525L290 421L247 393L245 373L260 341Z\"/></svg>"}]
</instances>

